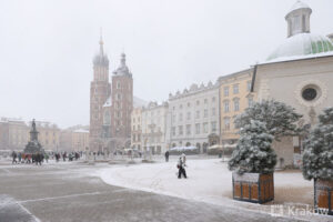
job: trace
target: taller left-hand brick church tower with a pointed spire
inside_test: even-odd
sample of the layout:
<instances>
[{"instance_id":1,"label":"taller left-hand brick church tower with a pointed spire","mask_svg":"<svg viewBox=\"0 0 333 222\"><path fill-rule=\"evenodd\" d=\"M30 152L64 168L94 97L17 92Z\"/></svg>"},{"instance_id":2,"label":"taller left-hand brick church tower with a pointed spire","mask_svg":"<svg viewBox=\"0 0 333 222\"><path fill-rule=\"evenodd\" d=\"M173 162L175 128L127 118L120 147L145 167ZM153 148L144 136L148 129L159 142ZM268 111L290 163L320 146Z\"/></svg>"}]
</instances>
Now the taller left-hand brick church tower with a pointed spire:
<instances>
[{"instance_id":1,"label":"taller left-hand brick church tower with a pointed spire","mask_svg":"<svg viewBox=\"0 0 333 222\"><path fill-rule=\"evenodd\" d=\"M109 83L109 59L103 51L103 40L100 39L100 52L93 58L93 81L90 83L90 133L91 151L101 151L103 112L102 108L111 94Z\"/></svg>"}]
</instances>

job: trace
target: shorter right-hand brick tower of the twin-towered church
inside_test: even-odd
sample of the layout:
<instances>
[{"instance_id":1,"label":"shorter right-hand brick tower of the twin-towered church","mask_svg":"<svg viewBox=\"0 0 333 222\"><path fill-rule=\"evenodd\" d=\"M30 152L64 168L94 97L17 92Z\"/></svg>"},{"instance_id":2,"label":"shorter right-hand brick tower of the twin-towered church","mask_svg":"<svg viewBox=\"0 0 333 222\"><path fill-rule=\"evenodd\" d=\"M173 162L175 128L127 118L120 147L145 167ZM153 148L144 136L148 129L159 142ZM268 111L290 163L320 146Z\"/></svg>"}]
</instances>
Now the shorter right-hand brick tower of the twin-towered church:
<instances>
[{"instance_id":1,"label":"shorter right-hand brick tower of the twin-towered church","mask_svg":"<svg viewBox=\"0 0 333 222\"><path fill-rule=\"evenodd\" d=\"M131 138L131 112L133 110L133 79L127 65L125 54L121 54L120 67L112 75L111 134L125 140Z\"/></svg>"}]
</instances>

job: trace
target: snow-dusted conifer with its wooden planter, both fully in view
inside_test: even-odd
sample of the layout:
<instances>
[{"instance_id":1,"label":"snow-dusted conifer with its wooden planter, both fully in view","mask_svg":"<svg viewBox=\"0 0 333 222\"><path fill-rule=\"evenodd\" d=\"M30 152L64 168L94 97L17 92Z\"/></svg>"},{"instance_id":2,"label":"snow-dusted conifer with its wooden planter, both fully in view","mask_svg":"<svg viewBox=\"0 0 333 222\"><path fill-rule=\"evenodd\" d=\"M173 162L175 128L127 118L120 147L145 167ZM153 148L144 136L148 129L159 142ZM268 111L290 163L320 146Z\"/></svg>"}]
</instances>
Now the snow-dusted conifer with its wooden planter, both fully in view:
<instances>
[{"instance_id":1,"label":"snow-dusted conifer with its wooden planter, both fully in view","mask_svg":"<svg viewBox=\"0 0 333 222\"><path fill-rule=\"evenodd\" d=\"M264 203L274 199L276 154L271 148L274 137L265 123L251 120L241 131L236 149L229 161L233 171L233 199Z\"/></svg>"}]
</instances>

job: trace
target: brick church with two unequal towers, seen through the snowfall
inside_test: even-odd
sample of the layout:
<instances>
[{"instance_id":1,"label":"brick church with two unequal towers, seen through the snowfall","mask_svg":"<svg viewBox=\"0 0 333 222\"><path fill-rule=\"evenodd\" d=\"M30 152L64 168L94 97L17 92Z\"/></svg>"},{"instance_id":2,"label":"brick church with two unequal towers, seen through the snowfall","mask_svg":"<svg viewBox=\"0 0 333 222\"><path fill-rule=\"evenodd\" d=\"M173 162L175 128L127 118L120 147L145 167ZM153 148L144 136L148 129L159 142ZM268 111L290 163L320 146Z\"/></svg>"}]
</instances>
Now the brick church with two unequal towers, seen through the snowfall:
<instances>
[{"instance_id":1,"label":"brick church with two unequal towers, seen through the snowfall","mask_svg":"<svg viewBox=\"0 0 333 222\"><path fill-rule=\"evenodd\" d=\"M110 152L130 147L133 78L121 54L119 68L109 81L109 59L100 40L100 52L93 59L93 81L90 84L89 150Z\"/></svg>"}]
</instances>

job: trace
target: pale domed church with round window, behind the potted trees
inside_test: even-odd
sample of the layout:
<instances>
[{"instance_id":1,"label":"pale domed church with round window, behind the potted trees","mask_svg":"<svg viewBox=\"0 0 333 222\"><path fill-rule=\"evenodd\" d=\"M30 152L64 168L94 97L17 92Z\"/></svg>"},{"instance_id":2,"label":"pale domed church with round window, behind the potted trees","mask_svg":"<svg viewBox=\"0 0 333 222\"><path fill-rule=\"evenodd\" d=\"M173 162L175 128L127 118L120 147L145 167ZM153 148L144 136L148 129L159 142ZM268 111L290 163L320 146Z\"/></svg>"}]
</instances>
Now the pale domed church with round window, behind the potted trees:
<instances>
[{"instance_id":1,"label":"pale domed church with round window, behind the potted trees","mask_svg":"<svg viewBox=\"0 0 333 222\"><path fill-rule=\"evenodd\" d=\"M324 108L333 105L333 43L311 33L312 9L297 1L285 16L287 38L266 59L254 65L252 93L258 100L275 99L303 114L300 125L314 125ZM300 165L301 138L274 144L280 167Z\"/></svg>"}]
</instances>

